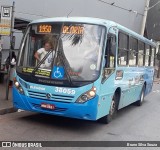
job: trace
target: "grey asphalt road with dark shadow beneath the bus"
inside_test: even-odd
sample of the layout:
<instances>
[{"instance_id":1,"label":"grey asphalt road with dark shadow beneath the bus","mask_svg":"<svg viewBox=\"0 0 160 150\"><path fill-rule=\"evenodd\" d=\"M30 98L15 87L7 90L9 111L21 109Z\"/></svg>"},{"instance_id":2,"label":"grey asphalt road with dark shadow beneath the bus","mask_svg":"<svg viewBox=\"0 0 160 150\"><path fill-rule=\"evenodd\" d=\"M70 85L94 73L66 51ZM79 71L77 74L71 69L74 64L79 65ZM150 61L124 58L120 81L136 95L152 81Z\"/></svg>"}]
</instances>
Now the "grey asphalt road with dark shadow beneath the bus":
<instances>
[{"instance_id":1,"label":"grey asphalt road with dark shadow beneath the bus","mask_svg":"<svg viewBox=\"0 0 160 150\"><path fill-rule=\"evenodd\" d=\"M0 141L160 141L159 116L160 84L155 84L152 93L145 97L141 107L130 105L120 110L117 117L108 125L32 112L2 115L0 116ZM24 149L31 150L32 148ZM97 150L106 148L43 149ZM158 150L160 148L136 149Z\"/></svg>"}]
</instances>

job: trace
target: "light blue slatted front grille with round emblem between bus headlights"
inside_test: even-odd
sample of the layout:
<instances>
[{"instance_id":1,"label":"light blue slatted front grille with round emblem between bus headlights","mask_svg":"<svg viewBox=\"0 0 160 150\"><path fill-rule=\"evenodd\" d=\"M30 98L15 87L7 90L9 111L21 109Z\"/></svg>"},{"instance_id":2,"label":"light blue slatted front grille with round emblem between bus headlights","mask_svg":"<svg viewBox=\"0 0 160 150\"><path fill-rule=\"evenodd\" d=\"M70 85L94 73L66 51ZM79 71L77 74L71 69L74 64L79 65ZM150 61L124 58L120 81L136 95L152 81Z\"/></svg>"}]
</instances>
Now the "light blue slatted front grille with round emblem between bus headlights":
<instances>
[{"instance_id":1,"label":"light blue slatted front grille with round emblem between bus headlights","mask_svg":"<svg viewBox=\"0 0 160 150\"><path fill-rule=\"evenodd\" d=\"M57 95L57 94L51 94L51 98L47 98L47 93L42 92L33 92L28 91L29 97L31 98L38 98L38 99L45 99L49 101L61 101L61 102L72 102L74 99L74 96L66 96L66 95Z\"/></svg>"}]
</instances>

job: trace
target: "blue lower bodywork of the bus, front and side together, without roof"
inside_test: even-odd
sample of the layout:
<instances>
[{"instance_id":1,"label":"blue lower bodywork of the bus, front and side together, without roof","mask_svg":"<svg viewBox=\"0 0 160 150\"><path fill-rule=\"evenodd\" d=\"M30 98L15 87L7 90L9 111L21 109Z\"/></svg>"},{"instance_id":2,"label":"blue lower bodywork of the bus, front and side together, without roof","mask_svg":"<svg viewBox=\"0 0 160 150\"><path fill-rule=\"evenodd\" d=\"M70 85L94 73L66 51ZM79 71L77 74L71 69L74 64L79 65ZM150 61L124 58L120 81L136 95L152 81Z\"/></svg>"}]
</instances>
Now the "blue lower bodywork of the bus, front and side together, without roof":
<instances>
[{"instance_id":1,"label":"blue lower bodywork of the bus, front and side together, without roof","mask_svg":"<svg viewBox=\"0 0 160 150\"><path fill-rule=\"evenodd\" d=\"M154 74L153 68L119 67L117 70L123 70L123 78L121 80L115 80L116 71L103 84L101 84L101 78L99 78L94 82L94 86L97 88L96 97L84 104L78 104L76 103L76 100L81 94L91 89L93 84L80 88L73 88L76 91L76 94L74 96L68 96L63 93L53 93L56 88L54 86L51 87L27 83L17 77L21 86L25 90L25 95L20 94L17 89L13 87L14 106L28 111L78 119L97 120L109 114L112 97L117 88L121 89L119 109L137 101L140 98L140 93L145 82L145 95L152 90L152 77ZM140 77L143 77L143 80ZM46 98L47 93L55 94L56 97L48 100ZM43 109L40 106L41 103L53 104L56 109Z\"/></svg>"}]
</instances>

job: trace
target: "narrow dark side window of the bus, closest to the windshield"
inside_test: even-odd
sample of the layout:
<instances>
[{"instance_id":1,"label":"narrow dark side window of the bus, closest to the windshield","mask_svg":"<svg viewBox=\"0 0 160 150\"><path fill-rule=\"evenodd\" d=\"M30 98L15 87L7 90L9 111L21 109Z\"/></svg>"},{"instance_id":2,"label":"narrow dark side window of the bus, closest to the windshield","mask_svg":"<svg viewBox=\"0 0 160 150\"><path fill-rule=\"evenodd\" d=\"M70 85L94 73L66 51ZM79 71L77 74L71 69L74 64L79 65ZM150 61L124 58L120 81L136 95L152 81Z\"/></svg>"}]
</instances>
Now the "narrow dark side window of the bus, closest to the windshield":
<instances>
[{"instance_id":1,"label":"narrow dark side window of the bus, closest to the windshield","mask_svg":"<svg viewBox=\"0 0 160 150\"><path fill-rule=\"evenodd\" d=\"M116 36L109 34L107 38L107 47L105 51L105 68L115 67L115 55L116 55Z\"/></svg>"}]
</instances>

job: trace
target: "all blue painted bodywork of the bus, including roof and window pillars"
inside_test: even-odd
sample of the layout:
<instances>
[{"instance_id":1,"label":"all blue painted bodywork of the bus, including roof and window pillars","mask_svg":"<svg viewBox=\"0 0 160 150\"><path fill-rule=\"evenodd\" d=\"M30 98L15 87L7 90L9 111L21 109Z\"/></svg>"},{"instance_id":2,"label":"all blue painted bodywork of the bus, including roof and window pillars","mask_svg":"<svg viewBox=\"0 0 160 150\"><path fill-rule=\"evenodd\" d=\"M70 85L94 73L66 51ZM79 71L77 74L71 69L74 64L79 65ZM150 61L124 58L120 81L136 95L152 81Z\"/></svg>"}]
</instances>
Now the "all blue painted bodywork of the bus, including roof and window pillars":
<instances>
[{"instance_id":1,"label":"all blue painted bodywork of the bus, including roof and window pillars","mask_svg":"<svg viewBox=\"0 0 160 150\"><path fill-rule=\"evenodd\" d=\"M133 37L137 37L146 43L155 46L153 42L145 39L144 37L138 35L137 33L117 24L112 21L97 19L97 18L79 18L79 17L64 17L64 18L48 18L33 21L32 23L41 23L41 22L81 22L81 23L90 23L103 25L107 30L111 27L114 27L113 34L116 35L118 39L118 30L122 30ZM31 23L31 24L32 24ZM106 36L107 37L107 36ZM106 39L107 40L107 39ZM106 42L105 42L106 43ZM105 46L104 46L105 49ZM118 53L118 42L117 49ZM105 52L103 52L105 53ZM103 54L104 55L104 54ZM118 60L118 54L116 54L115 59ZM103 57L104 59L104 57ZM103 60L102 60L103 62ZM101 64L101 68L103 68ZM16 76L17 81L20 83L24 89L25 94L20 94L15 87L13 87L13 103L16 108L47 113L52 115L59 115L65 117L72 117L78 119L86 120L97 120L105 115L109 114L111 101L113 95L117 89L120 90L120 100L118 109L121 109L140 98L141 90L143 85L145 85L145 95L151 92L153 85L153 67L120 67L115 64L115 72L113 72L103 83L103 69L101 69L100 77L94 81L92 84L72 88L72 87L58 87L65 88L69 90L74 90L75 94L67 93L57 93L55 86L47 86L41 84L28 83L23 79ZM123 72L122 79L116 79L117 71ZM85 92L89 91L92 87L96 87L96 96L87 101L86 103L79 104L76 103L76 100ZM51 98L47 99L46 95L50 94ZM41 104L53 104L55 109L49 110L41 108Z\"/></svg>"}]
</instances>

